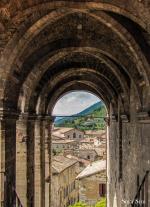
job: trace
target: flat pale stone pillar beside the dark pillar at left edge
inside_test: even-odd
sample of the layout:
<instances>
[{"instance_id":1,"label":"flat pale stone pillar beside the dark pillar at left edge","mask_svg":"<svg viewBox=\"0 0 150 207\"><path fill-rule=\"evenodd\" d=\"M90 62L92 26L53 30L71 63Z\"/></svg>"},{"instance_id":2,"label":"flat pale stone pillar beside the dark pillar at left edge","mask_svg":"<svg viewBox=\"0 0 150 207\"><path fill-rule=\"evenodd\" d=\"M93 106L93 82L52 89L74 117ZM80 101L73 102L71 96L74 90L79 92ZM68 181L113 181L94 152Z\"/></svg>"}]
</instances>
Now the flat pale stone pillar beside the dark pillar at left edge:
<instances>
[{"instance_id":1,"label":"flat pale stone pillar beside the dark pillar at left edge","mask_svg":"<svg viewBox=\"0 0 150 207\"><path fill-rule=\"evenodd\" d=\"M16 191L27 206L27 117L21 115L16 125Z\"/></svg>"}]
</instances>

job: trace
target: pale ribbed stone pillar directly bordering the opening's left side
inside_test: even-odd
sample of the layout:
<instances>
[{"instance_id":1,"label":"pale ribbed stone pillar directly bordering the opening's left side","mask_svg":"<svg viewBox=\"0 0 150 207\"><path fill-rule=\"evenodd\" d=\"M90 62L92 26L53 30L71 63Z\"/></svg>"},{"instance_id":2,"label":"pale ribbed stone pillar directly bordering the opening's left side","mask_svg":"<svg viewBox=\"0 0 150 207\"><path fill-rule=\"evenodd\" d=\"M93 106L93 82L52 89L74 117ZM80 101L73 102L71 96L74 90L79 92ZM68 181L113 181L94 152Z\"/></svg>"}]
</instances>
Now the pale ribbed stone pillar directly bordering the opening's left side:
<instances>
[{"instance_id":1,"label":"pale ribbed stone pillar directly bordering the opening's left side","mask_svg":"<svg viewBox=\"0 0 150 207\"><path fill-rule=\"evenodd\" d=\"M38 116L35 121L35 207L50 207L51 123L51 119L45 116Z\"/></svg>"}]
</instances>

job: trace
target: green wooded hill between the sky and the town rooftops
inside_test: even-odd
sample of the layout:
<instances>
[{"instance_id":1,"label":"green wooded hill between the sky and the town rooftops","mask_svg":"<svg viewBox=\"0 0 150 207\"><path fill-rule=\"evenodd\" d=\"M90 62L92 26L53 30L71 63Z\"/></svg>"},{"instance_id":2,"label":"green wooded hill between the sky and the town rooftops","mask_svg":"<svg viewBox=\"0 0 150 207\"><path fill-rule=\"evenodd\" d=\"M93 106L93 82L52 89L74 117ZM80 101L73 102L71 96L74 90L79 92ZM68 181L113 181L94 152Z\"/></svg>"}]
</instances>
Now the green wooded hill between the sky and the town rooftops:
<instances>
[{"instance_id":1,"label":"green wooded hill between the sky and the town rooftops","mask_svg":"<svg viewBox=\"0 0 150 207\"><path fill-rule=\"evenodd\" d=\"M98 102L71 117L56 118L55 126L73 127L81 130L104 129L105 122L103 117L105 116L106 108L102 102Z\"/></svg>"}]
</instances>

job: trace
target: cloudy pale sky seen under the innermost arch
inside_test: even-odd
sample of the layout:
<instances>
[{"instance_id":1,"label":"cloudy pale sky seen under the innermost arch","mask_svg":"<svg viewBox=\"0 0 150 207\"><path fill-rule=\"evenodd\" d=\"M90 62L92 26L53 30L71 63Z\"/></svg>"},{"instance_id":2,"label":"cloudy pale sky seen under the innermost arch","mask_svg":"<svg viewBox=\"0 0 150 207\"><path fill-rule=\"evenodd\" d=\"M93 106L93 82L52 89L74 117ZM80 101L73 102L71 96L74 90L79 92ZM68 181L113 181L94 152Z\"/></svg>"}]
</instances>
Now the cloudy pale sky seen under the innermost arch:
<instances>
[{"instance_id":1,"label":"cloudy pale sky seen under the innermost arch","mask_svg":"<svg viewBox=\"0 0 150 207\"><path fill-rule=\"evenodd\" d=\"M53 109L53 115L76 114L98 101L100 101L99 98L91 93L84 91L71 92L58 100Z\"/></svg>"}]
</instances>

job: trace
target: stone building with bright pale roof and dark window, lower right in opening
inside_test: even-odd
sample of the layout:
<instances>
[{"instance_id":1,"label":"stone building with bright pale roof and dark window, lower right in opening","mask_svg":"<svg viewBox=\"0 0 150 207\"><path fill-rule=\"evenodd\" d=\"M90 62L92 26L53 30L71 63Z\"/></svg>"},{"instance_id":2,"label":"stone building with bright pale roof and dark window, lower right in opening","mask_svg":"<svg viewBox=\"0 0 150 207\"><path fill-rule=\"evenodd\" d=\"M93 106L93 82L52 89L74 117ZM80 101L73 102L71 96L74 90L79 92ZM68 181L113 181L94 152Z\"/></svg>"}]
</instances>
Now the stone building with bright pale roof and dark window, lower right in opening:
<instances>
[{"instance_id":1,"label":"stone building with bright pale roof and dark window, lower right in opening","mask_svg":"<svg viewBox=\"0 0 150 207\"><path fill-rule=\"evenodd\" d=\"M78 176L79 200L95 205L106 196L106 161L96 161L89 164Z\"/></svg>"}]
</instances>

